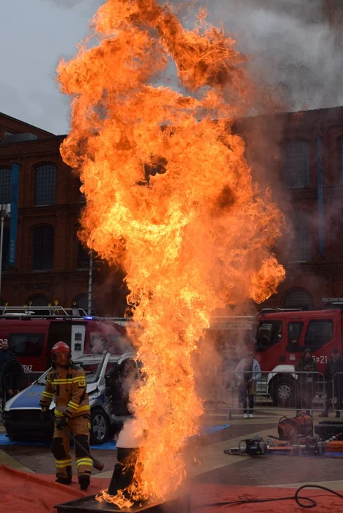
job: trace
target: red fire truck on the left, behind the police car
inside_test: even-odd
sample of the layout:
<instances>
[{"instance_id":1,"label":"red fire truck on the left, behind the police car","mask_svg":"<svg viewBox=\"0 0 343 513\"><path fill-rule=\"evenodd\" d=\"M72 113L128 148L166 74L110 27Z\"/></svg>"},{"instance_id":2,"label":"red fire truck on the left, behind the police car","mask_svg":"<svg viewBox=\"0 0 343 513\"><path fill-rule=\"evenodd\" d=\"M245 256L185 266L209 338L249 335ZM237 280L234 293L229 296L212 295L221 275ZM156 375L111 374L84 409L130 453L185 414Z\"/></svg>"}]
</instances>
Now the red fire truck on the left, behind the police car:
<instances>
[{"instance_id":1,"label":"red fire truck on the left, behind the police car","mask_svg":"<svg viewBox=\"0 0 343 513\"><path fill-rule=\"evenodd\" d=\"M125 320L96 318L81 309L60 306L3 307L0 309L0 348L9 342L24 372L43 372L50 366L52 346L62 340L71 347L73 358L109 351L130 350L125 336Z\"/></svg>"}]
</instances>

